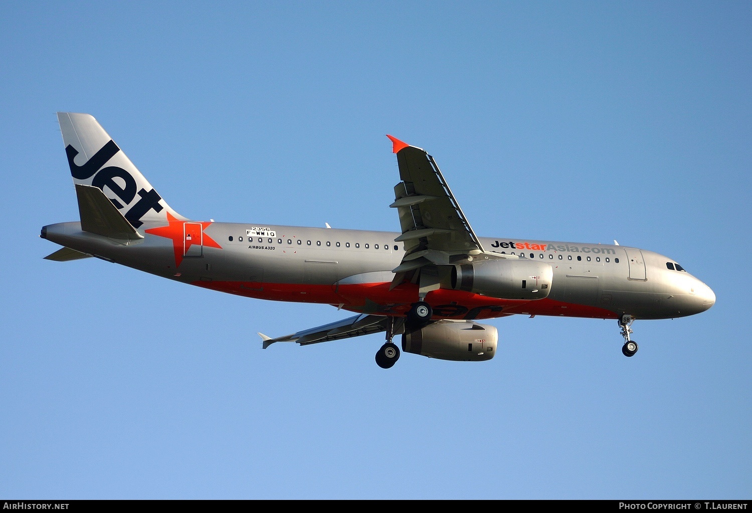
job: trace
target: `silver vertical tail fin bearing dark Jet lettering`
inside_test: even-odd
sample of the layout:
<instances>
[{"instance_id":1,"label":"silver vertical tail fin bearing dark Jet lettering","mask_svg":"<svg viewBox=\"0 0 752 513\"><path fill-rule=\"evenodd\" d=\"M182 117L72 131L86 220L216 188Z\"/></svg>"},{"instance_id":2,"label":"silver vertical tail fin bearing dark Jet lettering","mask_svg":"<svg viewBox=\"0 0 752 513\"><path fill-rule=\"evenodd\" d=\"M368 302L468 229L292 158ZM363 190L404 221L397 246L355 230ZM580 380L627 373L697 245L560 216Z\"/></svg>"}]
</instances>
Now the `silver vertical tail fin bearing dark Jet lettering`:
<instances>
[{"instance_id":1,"label":"silver vertical tail fin bearing dark Jet lettering","mask_svg":"<svg viewBox=\"0 0 752 513\"><path fill-rule=\"evenodd\" d=\"M157 194L96 119L72 112L59 112L57 119L74 184L102 189L135 228L148 221L166 222L168 212L186 219Z\"/></svg>"}]
</instances>

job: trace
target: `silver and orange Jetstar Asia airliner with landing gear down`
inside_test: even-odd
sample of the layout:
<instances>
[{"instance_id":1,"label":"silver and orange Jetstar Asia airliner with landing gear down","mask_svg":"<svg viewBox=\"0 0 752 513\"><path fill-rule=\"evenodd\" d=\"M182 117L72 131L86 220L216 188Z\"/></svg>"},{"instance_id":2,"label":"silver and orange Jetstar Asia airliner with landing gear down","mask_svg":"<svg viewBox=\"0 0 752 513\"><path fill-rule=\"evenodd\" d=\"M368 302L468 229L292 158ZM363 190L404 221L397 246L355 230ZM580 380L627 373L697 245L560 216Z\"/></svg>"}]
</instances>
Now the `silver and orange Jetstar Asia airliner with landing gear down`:
<instances>
[{"instance_id":1,"label":"silver and orange Jetstar Asia airliner with landing gear down","mask_svg":"<svg viewBox=\"0 0 752 513\"><path fill-rule=\"evenodd\" d=\"M356 315L286 336L259 333L262 349L385 333L376 353L488 361L508 315L616 319L623 355L638 345L635 319L678 318L715 303L708 285L646 249L478 237L434 158L387 135L399 165L390 207L399 232L199 221L180 216L89 114L57 113L80 222L41 228L63 246L47 260L108 262L262 300L326 303Z\"/></svg>"}]
</instances>

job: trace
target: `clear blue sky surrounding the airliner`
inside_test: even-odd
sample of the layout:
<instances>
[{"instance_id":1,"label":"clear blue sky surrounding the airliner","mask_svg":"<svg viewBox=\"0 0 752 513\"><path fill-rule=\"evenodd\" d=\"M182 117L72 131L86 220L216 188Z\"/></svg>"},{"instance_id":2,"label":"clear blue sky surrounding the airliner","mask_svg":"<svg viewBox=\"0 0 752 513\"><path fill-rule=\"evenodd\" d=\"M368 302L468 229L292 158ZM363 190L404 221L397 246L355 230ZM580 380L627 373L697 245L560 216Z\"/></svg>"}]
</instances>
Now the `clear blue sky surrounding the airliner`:
<instances>
[{"instance_id":1,"label":"clear blue sky surrounding the airliner","mask_svg":"<svg viewBox=\"0 0 752 513\"><path fill-rule=\"evenodd\" d=\"M14 2L0 12L0 496L748 499L748 2ZM398 230L393 134L475 231L637 246L690 318L511 317L486 363L344 317L42 260L78 219L58 110L194 219Z\"/></svg>"}]
</instances>

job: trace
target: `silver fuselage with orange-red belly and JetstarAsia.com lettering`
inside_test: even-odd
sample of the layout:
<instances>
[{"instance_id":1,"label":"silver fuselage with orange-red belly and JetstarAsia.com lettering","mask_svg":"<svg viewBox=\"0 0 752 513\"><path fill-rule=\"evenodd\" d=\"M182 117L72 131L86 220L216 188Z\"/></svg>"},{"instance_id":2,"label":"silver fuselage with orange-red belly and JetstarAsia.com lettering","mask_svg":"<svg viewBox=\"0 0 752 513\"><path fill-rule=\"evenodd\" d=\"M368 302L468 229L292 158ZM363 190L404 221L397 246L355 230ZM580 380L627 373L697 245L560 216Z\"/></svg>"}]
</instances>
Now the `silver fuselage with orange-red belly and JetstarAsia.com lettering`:
<instances>
[{"instance_id":1,"label":"silver fuselage with orange-red belly and JetstarAsia.com lettering","mask_svg":"<svg viewBox=\"0 0 752 513\"><path fill-rule=\"evenodd\" d=\"M410 284L389 290L392 270L404 254L402 243L394 242L397 232L205 222L202 240L187 243L189 229L174 224L170 236L149 233L164 230L165 223L144 223L138 228L144 239L135 241L81 231L80 222L48 225L42 237L147 273L247 297L384 314L402 314L417 300L417 288ZM515 301L454 291L444 273L441 289L426 296L435 318L515 313L675 318L705 311L715 301L711 288L656 252L550 240L480 240L486 252L550 264L548 297Z\"/></svg>"}]
</instances>

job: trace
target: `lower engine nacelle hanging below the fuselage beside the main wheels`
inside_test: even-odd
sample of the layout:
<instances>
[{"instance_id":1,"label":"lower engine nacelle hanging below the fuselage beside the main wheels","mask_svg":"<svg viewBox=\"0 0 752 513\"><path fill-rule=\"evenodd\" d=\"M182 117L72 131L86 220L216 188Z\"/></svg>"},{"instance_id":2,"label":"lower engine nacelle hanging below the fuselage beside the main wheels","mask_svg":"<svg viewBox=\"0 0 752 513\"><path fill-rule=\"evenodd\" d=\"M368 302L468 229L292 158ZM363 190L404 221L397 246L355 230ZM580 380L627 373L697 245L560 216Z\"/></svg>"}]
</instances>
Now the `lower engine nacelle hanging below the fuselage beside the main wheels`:
<instances>
[{"instance_id":1,"label":"lower engine nacelle hanging below the fuselage beside the main wheels","mask_svg":"<svg viewBox=\"0 0 752 513\"><path fill-rule=\"evenodd\" d=\"M451 361L485 361L496 355L496 327L473 321L438 321L402 335L402 351Z\"/></svg>"}]
</instances>

